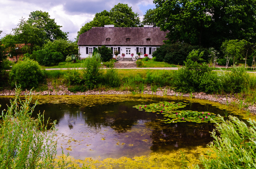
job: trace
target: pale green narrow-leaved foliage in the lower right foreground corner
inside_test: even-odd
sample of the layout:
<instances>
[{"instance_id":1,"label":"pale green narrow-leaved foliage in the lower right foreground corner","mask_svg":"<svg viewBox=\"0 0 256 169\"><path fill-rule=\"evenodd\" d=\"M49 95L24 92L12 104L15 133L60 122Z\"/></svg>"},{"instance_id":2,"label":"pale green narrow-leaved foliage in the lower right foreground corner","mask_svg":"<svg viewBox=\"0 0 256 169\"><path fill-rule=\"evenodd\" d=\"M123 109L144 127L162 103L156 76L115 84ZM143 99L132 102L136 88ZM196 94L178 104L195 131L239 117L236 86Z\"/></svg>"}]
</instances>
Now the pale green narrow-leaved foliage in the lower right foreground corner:
<instances>
[{"instance_id":1,"label":"pale green narrow-leaved foliage in the lower right foreground corner","mask_svg":"<svg viewBox=\"0 0 256 169\"><path fill-rule=\"evenodd\" d=\"M220 118L220 123L213 120L216 123L216 129L211 132L214 140L208 144L213 153L207 153L209 159L200 157L203 167L256 168L256 122L249 120L249 127L237 117L229 116L228 121L224 121L223 117Z\"/></svg>"}]
</instances>

